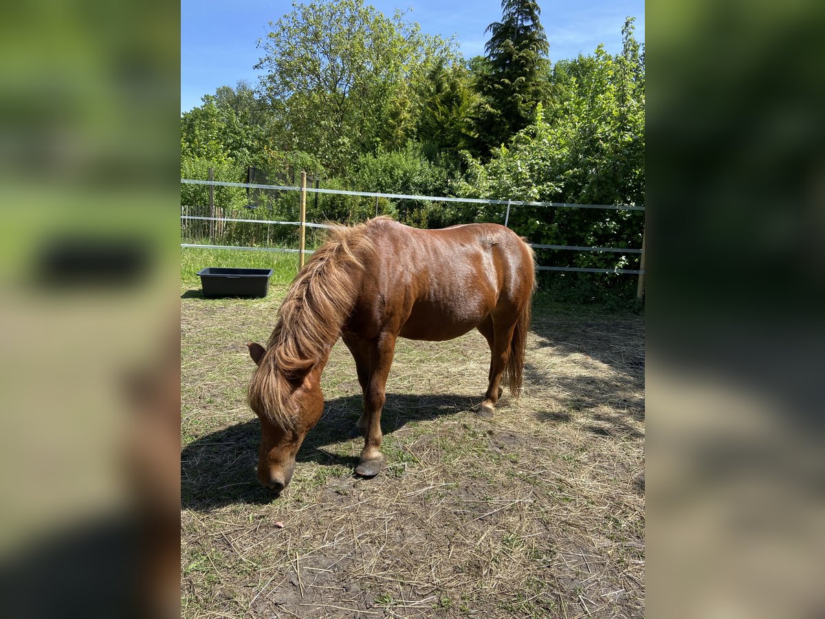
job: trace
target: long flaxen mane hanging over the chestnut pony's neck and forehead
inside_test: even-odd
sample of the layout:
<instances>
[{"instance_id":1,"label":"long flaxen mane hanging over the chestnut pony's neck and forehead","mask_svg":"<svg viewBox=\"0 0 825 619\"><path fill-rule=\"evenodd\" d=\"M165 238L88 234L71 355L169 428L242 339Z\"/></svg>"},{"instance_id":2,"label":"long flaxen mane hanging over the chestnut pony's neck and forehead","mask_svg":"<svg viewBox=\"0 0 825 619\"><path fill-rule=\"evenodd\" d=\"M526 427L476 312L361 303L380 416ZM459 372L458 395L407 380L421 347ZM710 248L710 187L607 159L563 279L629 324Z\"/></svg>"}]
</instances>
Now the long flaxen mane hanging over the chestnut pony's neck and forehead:
<instances>
[{"instance_id":1,"label":"long flaxen mane hanging over the chestnut pony's neck and forehead","mask_svg":"<svg viewBox=\"0 0 825 619\"><path fill-rule=\"evenodd\" d=\"M289 401L290 379L328 354L352 310L358 291L350 272L364 268L360 257L375 251L368 234L374 221L331 229L327 242L292 281L278 309L266 354L252 374L249 405L281 428L293 428L298 414Z\"/></svg>"}]
</instances>

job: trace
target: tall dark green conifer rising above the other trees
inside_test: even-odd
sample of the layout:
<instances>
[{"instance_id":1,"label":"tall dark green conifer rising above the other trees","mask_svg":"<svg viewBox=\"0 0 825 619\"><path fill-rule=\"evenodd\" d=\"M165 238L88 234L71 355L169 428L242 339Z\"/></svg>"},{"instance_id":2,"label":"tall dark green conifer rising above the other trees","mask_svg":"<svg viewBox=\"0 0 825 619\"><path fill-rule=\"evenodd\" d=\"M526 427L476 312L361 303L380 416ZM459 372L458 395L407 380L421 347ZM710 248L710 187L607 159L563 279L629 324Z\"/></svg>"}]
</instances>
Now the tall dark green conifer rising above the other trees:
<instances>
[{"instance_id":1,"label":"tall dark green conifer rising above the other trees","mask_svg":"<svg viewBox=\"0 0 825 619\"><path fill-rule=\"evenodd\" d=\"M535 0L502 0L502 21L487 28L486 66L479 68L477 81L483 97L476 114L481 154L507 144L529 125L544 98L549 44L540 13Z\"/></svg>"}]
</instances>

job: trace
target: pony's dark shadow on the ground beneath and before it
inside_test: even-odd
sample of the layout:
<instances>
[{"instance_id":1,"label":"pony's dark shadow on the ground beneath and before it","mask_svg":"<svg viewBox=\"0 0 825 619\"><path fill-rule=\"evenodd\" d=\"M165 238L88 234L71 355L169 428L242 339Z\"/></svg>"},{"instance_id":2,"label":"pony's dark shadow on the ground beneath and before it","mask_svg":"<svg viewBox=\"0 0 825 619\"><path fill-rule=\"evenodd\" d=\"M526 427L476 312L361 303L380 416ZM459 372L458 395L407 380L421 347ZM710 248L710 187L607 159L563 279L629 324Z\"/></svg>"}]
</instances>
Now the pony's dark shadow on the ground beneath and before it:
<instances>
[{"instance_id":1,"label":"pony's dark shadow on the ground beneath and before it","mask_svg":"<svg viewBox=\"0 0 825 619\"><path fill-rule=\"evenodd\" d=\"M307 435L297 460L354 469L356 457L338 456L325 447L351 440L348 432L361 414L362 401L361 395L328 400L323 417ZM464 395L388 394L381 428L384 435L392 434L407 423L466 412L474 404L478 401ZM255 418L187 445L181 451L181 503L198 511L231 503L271 503L275 494L258 484L255 476L260 440L261 425ZM363 441L354 440L359 444Z\"/></svg>"}]
</instances>

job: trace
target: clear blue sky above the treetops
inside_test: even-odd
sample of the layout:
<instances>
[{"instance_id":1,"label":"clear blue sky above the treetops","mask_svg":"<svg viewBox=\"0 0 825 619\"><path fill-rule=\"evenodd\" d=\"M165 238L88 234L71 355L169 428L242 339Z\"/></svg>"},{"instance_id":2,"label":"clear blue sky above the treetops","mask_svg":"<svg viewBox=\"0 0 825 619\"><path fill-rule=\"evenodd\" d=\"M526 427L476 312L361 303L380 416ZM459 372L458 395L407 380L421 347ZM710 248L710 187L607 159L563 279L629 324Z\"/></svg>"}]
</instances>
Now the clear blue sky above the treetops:
<instances>
[{"instance_id":1,"label":"clear blue sky above the treetops","mask_svg":"<svg viewBox=\"0 0 825 619\"><path fill-rule=\"evenodd\" d=\"M465 58L483 54L485 29L502 17L500 0L365 0L385 15L412 8L407 18L431 35L455 35ZM644 0L539 0L551 60L591 54L605 44L621 50L626 16L636 17L636 38L644 40ZM256 85L252 67L261 58L257 40L269 21L292 8L283 0L181 0L181 111L200 105L200 97L238 80Z\"/></svg>"}]
</instances>

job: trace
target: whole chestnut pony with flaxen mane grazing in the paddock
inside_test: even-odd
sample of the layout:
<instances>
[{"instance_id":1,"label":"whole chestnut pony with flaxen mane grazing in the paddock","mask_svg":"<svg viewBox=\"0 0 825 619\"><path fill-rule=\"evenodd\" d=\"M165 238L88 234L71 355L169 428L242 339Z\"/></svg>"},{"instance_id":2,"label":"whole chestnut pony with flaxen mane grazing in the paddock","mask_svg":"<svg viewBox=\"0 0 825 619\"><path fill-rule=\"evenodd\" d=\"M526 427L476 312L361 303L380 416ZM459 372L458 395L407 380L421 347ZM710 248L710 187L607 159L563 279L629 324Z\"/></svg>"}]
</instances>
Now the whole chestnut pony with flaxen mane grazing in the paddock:
<instances>
[{"instance_id":1,"label":"whole chestnut pony with flaxen mane grazing in the paddock","mask_svg":"<svg viewBox=\"0 0 825 619\"><path fill-rule=\"evenodd\" d=\"M478 328L490 346L492 417L502 377L518 397L535 287L533 252L498 224L421 230L378 217L332 238L295 277L266 348L247 344L257 369L249 405L261 419L257 476L281 492L295 456L323 412L321 372L340 337L355 357L365 436L356 473L381 468L381 407L395 340L441 341Z\"/></svg>"}]
</instances>

